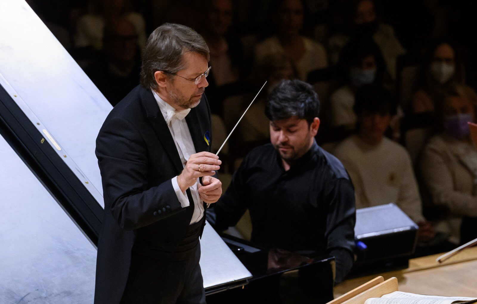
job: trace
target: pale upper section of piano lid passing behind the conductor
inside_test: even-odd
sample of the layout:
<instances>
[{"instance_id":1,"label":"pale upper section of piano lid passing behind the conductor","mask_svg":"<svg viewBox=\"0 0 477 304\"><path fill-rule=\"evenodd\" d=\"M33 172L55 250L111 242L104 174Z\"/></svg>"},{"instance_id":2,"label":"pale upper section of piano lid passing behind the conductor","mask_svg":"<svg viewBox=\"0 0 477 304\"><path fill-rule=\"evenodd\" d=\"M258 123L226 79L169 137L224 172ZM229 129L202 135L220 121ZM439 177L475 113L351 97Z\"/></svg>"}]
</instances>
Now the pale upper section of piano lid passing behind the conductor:
<instances>
[{"instance_id":1,"label":"pale upper section of piano lid passing behind the conductor","mask_svg":"<svg viewBox=\"0 0 477 304\"><path fill-rule=\"evenodd\" d=\"M53 164L64 163L63 167L77 179L71 186L78 191L78 187L87 189L94 198L94 202L85 203L103 206L94 149L96 136L112 106L24 0L0 1L0 28L0 85L21 115L15 114L18 109L9 112L19 121L20 116L26 115L30 128L41 134L39 138L43 137L50 152L57 156L53 159L52 153L45 153L45 157ZM3 102L12 108L7 101L0 101L0 106ZM40 143L37 144L30 150L41 150ZM242 285L251 277L210 225L204 230L201 244L205 287Z\"/></svg>"}]
</instances>

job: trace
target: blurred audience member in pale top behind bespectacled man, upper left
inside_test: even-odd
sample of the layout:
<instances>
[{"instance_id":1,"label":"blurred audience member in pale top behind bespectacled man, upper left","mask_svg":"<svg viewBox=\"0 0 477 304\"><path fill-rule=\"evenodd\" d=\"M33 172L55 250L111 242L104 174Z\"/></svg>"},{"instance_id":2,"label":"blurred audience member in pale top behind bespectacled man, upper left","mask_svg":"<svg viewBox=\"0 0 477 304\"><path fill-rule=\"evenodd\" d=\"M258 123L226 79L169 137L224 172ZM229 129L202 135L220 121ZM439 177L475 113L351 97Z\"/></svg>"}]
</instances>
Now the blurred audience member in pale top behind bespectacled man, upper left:
<instances>
[{"instance_id":1,"label":"blurred audience member in pale top behind bespectacled man, upper left","mask_svg":"<svg viewBox=\"0 0 477 304\"><path fill-rule=\"evenodd\" d=\"M146 42L145 22L140 14L132 11L132 3L129 0L93 0L90 2L89 11L76 24L74 36L76 47L101 50L104 41L104 23L122 16L134 25L137 43L142 50Z\"/></svg>"}]
</instances>

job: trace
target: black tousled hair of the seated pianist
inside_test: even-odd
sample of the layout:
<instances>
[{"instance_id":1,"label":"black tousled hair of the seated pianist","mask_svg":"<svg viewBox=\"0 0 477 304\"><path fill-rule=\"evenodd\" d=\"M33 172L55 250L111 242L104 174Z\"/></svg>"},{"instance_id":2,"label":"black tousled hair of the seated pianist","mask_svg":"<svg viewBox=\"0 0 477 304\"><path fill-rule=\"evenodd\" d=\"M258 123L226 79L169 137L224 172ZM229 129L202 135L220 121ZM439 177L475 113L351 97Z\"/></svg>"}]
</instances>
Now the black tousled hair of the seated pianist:
<instances>
[{"instance_id":1,"label":"black tousled hair of the seated pianist","mask_svg":"<svg viewBox=\"0 0 477 304\"><path fill-rule=\"evenodd\" d=\"M271 121L298 116L310 125L320 113L320 100L310 84L298 79L282 80L275 87L265 106L265 115Z\"/></svg>"}]
</instances>

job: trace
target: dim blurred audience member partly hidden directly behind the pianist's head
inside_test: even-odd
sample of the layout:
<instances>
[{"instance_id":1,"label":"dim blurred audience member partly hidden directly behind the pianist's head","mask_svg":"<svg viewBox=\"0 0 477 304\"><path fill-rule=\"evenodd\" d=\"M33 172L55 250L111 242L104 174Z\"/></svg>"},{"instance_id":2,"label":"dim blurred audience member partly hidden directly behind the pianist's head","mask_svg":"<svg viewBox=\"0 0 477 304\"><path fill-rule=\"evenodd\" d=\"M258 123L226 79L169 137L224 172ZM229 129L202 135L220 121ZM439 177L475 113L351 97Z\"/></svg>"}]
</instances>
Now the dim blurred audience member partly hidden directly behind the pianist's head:
<instances>
[{"instance_id":1,"label":"dim blurred audience member partly hidden directly behind the pianist's head","mask_svg":"<svg viewBox=\"0 0 477 304\"><path fill-rule=\"evenodd\" d=\"M267 84L239 124L240 139L247 151L270 141L270 123L265 116L268 95L281 80L295 79L298 73L289 57L284 54L270 54L257 63L252 77L253 87L261 87L265 81Z\"/></svg>"}]
</instances>

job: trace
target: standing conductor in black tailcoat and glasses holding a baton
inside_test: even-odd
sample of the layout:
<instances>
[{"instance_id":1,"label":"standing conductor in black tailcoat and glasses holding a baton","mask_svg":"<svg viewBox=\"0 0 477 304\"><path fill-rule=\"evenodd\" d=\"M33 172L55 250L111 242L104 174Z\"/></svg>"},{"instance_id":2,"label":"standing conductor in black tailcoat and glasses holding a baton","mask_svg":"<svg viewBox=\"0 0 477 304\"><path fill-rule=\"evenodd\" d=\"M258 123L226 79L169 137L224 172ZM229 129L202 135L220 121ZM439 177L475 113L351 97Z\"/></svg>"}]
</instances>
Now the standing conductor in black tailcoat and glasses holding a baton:
<instances>
[{"instance_id":1,"label":"standing conductor in black tailcoat and glasses holding a baton","mask_svg":"<svg viewBox=\"0 0 477 304\"><path fill-rule=\"evenodd\" d=\"M141 84L99 131L95 304L205 303L199 237L204 205L222 193L213 177L221 162L209 152L208 61L194 30L161 25L145 45Z\"/></svg>"}]
</instances>

